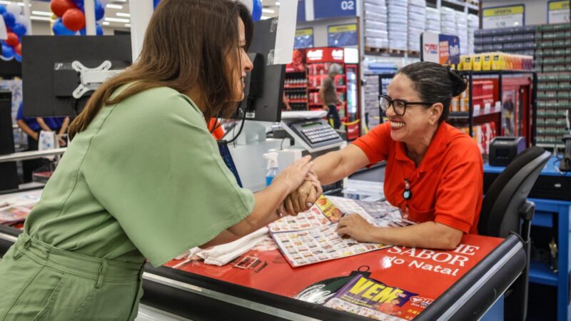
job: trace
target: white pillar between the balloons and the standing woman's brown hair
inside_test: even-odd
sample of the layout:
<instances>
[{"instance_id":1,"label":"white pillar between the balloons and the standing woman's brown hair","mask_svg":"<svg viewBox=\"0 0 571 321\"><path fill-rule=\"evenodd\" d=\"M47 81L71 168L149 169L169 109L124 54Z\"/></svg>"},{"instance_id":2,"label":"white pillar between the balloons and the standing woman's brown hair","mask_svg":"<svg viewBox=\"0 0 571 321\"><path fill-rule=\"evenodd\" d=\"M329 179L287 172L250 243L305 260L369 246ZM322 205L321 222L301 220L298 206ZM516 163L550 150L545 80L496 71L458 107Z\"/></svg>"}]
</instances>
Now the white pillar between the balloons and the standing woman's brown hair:
<instances>
[{"instance_id":1,"label":"white pillar between the balloons and the standing woman's brown hair","mask_svg":"<svg viewBox=\"0 0 571 321\"><path fill-rule=\"evenodd\" d=\"M131 11L131 50L134 63L143 48L148 21L151 21L151 16L153 16L153 0L129 0L129 10Z\"/></svg>"}]
</instances>

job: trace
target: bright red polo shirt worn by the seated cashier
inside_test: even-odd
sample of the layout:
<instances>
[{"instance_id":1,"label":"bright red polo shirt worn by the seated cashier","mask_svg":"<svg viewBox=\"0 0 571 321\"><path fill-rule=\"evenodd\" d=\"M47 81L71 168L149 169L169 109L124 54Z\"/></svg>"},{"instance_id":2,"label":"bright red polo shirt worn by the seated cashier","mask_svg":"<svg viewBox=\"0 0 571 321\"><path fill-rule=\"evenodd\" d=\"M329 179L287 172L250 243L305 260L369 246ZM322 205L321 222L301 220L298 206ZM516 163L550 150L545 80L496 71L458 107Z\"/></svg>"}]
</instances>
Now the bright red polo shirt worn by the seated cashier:
<instances>
[{"instance_id":1,"label":"bright red polo shirt worn by the seated cashier","mask_svg":"<svg viewBox=\"0 0 571 321\"><path fill-rule=\"evenodd\" d=\"M408 158L405 144L390 138L390 123L373 128L355 143L371 164L387 161L385 198L418 223L435 221L477 234L482 207L483 165L473 138L448 123L438 126L418 168ZM403 198L405 178L413 193Z\"/></svg>"}]
</instances>

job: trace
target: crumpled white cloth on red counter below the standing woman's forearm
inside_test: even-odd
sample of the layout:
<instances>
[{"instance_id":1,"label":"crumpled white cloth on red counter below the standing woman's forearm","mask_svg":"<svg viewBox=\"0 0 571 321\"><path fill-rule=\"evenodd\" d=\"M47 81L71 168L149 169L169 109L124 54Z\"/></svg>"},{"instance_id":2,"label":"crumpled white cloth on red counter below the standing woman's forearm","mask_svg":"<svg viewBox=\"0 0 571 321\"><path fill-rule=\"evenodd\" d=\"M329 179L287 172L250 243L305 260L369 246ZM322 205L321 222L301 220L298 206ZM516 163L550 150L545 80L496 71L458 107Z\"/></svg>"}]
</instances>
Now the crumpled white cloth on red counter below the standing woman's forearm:
<instances>
[{"instance_id":1,"label":"crumpled white cloth on red counter below the standing woman's forearm","mask_svg":"<svg viewBox=\"0 0 571 321\"><path fill-rule=\"evenodd\" d=\"M177 259L184 258L185 256L191 258L193 255L198 255L200 258L203 258L205 264L226 265L231 260L238 258L238 256L243 255L258 245L258 243L266 238L268 232L268 228L261 228L231 243L216 245L206 250L191 248L191 250L186 251L186 253L179 255Z\"/></svg>"}]
</instances>

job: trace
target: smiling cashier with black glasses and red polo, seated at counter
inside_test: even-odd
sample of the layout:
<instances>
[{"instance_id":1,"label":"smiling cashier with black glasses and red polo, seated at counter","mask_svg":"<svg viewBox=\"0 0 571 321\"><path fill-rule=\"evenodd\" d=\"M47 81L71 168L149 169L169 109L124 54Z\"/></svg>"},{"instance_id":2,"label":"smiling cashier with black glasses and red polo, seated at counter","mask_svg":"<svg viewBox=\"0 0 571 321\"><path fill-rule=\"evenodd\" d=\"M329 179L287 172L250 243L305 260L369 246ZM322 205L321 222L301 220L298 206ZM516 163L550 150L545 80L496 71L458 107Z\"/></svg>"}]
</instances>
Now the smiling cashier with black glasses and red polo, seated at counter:
<instances>
[{"instance_id":1,"label":"smiling cashier with black glasses and red polo, seated at counter","mask_svg":"<svg viewBox=\"0 0 571 321\"><path fill-rule=\"evenodd\" d=\"M482 205L482 156L475 141L445 123L451 98L466 88L465 77L438 63L419 62L400 69L380 96L389 122L355 143L321 156L313 170L323 185L363 166L386 161L385 198L417 225L377 228L360 215L346 215L340 235L361 242L450 250L463 233L476 234ZM285 200L304 209L308 186Z\"/></svg>"}]
</instances>

